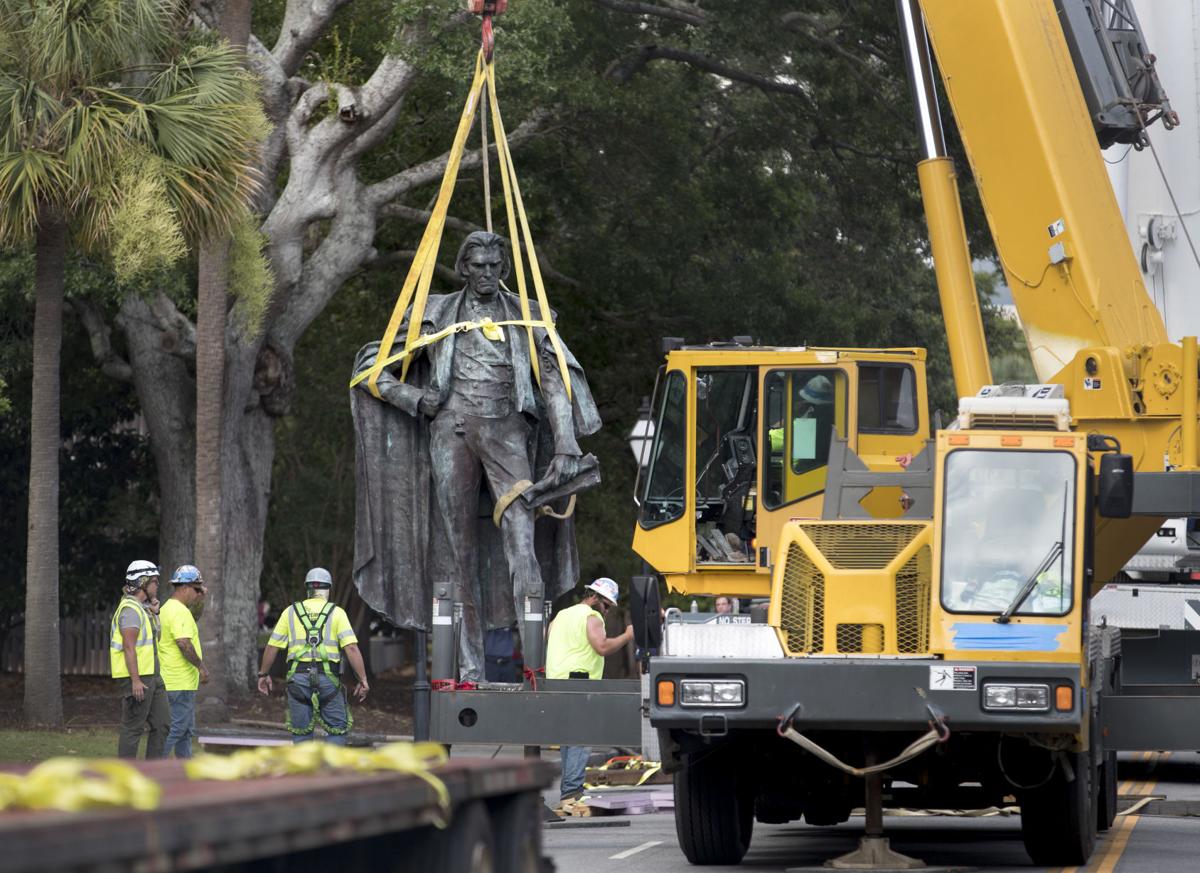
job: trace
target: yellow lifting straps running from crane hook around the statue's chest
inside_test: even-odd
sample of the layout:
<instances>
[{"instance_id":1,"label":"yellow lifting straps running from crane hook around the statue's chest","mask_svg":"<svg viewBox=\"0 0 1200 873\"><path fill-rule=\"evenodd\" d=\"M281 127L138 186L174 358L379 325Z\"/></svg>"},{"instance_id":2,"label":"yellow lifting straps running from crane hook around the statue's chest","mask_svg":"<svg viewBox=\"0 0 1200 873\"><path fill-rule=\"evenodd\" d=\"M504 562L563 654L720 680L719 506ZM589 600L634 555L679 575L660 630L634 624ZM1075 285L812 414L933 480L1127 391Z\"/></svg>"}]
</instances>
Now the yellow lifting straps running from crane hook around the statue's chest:
<instances>
[{"instance_id":1,"label":"yellow lifting straps running from crane hook around the statue's chest","mask_svg":"<svg viewBox=\"0 0 1200 873\"><path fill-rule=\"evenodd\" d=\"M430 294L430 283L433 279L434 267L437 265L438 247L442 243L442 234L445 230L446 212L450 209L450 198L454 193L455 181L458 179L458 167L462 163L463 147L467 143L467 134L470 132L474 121L475 101L481 97L481 95L487 94L490 100L487 101L491 107L492 114L492 130L496 133L496 152L499 157L500 168L500 182L504 187L504 207L508 213L509 219L509 239L512 241L512 269L517 277L517 296L521 300L521 318L510 321L492 321L491 319L484 319L482 321L460 321L451 325L437 333L421 336L421 323L425 315L425 303ZM520 221L520 224L518 224ZM538 296L538 306L540 307L541 318L534 319L529 311L529 293L526 284L524 275L524 257L522 254L522 241L523 247L529 254L529 273L533 277L534 294ZM412 314L408 321L408 333L404 337L404 348L397 354L392 354L391 349L396 342L396 333L400 332L400 325L404 319L404 313L409 311L409 305L412 305ZM450 156L446 161L446 169L442 176L442 187L438 191L438 198L433 206L433 212L430 216L428 224L425 225L425 233L421 236L421 242L416 248L416 254L413 258L413 264L408 270L408 276L404 278L404 284L400 291L400 299L396 301L396 307L392 309L391 320L388 323L388 329L384 331L383 339L379 342L379 351L376 355L374 363L370 369L364 371L350 380L350 387L354 387L362 380L367 381L367 386L371 393L379 397L379 374L385 367L401 361L400 378L401 381L408 375L408 367L412 363L412 356L419 349L431 345L440 339L444 339L452 333L460 333L468 330L482 330L484 336L493 342L504 339L503 330L500 327L514 325L522 326L529 337L529 363L533 367L534 378L538 380L539 386L541 385L541 369L538 361L538 348L534 342L534 329L540 327L546 331L550 337L551 345L554 349L554 356L558 360L558 372L562 374L563 385L566 389L568 398L571 397L571 374L566 367L566 355L563 349L563 343L558 338L558 332L554 329L553 319L551 318L550 302L546 299L546 287L542 282L541 269L538 265L538 254L533 245L533 234L529 230L529 219L526 215L524 201L521 199L521 187L517 183L516 167L512 163L512 152L509 149L508 134L504 131L504 121L500 118L500 106L496 97L496 65L485 59L484 52L480 50L475 59L475 73L472 78L470 91L467 94L467 102L462 109L462 116L458 119L458 130L455 133L454 145L450 147Z\"/></svg>"}]
</instances>

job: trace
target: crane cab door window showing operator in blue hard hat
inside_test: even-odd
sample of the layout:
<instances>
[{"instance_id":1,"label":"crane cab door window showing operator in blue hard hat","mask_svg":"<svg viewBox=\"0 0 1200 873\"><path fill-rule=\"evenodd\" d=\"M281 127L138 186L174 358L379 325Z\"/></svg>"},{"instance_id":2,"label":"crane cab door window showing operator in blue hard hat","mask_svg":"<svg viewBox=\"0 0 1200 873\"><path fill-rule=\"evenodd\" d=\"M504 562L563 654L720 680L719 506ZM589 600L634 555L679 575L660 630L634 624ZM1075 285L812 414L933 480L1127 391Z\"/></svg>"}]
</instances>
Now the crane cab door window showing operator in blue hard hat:
<instances>
[{"instance_id":1,"label":"crane cab door window showing operator in blue hard hat","mask_svg":"<svg viewBox=\"0 0 1200 873\"><path fill-rule=\"evenodd\" d=\"M824 489L833 433L846 435L848 393L841 369L767 374L763 505L768 510Z\"/></svg>"}]
</instances>

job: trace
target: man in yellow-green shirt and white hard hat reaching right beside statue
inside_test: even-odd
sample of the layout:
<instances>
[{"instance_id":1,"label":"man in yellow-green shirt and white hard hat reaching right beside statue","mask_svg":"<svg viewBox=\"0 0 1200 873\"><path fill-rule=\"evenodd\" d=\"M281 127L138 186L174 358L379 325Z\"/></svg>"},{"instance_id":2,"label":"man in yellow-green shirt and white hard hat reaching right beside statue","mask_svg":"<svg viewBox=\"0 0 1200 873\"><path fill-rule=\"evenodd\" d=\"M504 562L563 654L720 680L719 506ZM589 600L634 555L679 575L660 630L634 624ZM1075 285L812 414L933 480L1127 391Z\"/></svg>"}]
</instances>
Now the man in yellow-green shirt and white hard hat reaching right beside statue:
<instances>
[{"instance_id":1,"label":"man in yellow-green shirt and white hard hat reaching right beside statue","mask_svg":"<svg viewBox=\"0 0 1200 873\"><path fill-rule=\"evenodd\" d=\"M617 583L600 577L587 586L583 600L568 607L550 624L546 642L546 679L602 679L606 655L618 652L634 639L634 626L611 639L605 634L604 616L617 606ZM562 801L583 793L583 775L592 749L563 746Z\"/></svg>"}]
</instances>

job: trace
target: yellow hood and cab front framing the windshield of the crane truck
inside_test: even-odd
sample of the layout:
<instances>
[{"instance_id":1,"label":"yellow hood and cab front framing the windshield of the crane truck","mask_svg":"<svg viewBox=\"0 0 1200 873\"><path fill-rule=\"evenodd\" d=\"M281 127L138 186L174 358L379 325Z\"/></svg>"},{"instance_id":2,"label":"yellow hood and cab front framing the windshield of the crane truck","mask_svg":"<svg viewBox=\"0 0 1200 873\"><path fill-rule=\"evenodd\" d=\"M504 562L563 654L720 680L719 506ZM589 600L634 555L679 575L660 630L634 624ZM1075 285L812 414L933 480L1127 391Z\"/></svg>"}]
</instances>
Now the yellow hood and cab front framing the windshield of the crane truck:
<instances>
[{"instance_id":1,"label":"yellow hood and cab front framing the windshield of the crane truck","mask_svg":"<svg viewBox=\"0 0 1200 873\"><path fill-rule=\"evenodd\" d=\"M950 444L954 435L954 445ZM1014 445L1015 439L1020 445ZM1069 504L1070 598L1062 614L1014 615L1016 632L1044 626L1046 646L970 649L955 637L966 624L995 627L1000 608L952 612L942 596L944 469L960 451L1057 452L1074 463L1074 495L1087 488L1087 438L1052 431L938 433L932 520L792 520L784 525L772 578L768 624L790 657L829 655L941 656L949 660L1084 664L1085 501ZM961 519L958 519L962 524ZM980 531L980 535L986 531ZM1086 670L1081 670L1086 673ZM1084 680L1086 682L1086 680Z\"/></svg>"}]
</instances>

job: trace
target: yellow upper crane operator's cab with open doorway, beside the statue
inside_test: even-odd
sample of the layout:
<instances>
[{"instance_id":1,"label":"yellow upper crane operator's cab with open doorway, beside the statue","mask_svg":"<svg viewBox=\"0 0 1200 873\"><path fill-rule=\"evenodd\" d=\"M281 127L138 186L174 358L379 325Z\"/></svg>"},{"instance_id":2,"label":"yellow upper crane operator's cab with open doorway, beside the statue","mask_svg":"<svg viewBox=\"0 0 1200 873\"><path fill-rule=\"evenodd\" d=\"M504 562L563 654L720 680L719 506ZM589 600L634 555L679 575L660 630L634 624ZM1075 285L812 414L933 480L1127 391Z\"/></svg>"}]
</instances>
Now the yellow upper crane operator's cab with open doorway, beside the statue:
<instances>
[{"instance_id":1,"label":"yellow upper crane operator's cab with open doorway, beside the statue","mask_svg":"<svg viewBox=\"0 0 1200 873\"><path fill-rule=\"evenodd\" d=\"M683 347L652 415L634 550L684 594L767 596L784 524L821 517L834 434L882 470L924 444L925 351ZM888 489L864 507L902 512Z\"/></svg>"}]
</instances>

